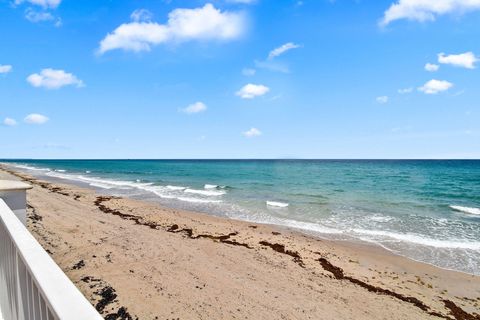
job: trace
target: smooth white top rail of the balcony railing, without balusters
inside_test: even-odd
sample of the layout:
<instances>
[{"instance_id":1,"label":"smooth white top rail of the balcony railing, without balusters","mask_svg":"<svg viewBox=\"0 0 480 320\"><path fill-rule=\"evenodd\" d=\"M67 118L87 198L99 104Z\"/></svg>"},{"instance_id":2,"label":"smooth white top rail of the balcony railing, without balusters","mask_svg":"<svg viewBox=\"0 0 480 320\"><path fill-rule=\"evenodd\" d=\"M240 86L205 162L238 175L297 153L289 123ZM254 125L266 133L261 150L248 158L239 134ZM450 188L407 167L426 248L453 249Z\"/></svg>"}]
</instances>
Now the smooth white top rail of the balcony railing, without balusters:
<instances>
[{"instance_id":1,"label":"smooth white top rail of the balcony railing, without balusters","mask_svg":"<svg viewBox=\"0 0 480 320\"><path fill-rule=\"evenodd\" d=\"M0 199L0 223L2 222L50 311L57 319L103 319Z\"/></svg>"}]
</instances>

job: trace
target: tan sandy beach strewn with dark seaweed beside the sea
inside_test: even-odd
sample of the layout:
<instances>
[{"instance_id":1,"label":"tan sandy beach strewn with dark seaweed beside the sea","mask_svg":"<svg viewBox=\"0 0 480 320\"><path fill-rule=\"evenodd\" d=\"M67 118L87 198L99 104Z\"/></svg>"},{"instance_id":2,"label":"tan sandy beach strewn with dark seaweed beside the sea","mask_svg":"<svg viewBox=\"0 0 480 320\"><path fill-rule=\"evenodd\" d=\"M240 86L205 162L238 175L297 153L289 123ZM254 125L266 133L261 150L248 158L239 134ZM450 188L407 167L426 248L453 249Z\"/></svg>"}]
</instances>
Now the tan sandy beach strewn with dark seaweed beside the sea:
<instances>
[{"instance_id":1,"label":"tan sandy beach strewn with dark seaweed beside the sea","mask_svg":"<svg viewBox=\"0 0 480 320\"><path fill-rule=\"evenodd\" d=\"M380 247L100 195L1 167L106 319L480 319L480 277Z\"/></svg>"}]
</instances>

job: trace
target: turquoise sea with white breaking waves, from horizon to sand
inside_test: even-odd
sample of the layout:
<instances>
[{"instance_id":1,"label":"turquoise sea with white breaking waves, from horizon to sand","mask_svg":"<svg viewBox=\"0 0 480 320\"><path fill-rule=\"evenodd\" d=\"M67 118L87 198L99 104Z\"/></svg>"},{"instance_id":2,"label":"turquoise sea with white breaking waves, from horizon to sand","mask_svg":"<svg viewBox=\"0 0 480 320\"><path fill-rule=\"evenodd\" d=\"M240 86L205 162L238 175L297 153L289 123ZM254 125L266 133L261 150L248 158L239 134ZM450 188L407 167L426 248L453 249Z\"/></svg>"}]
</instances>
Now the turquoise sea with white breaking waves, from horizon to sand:
<instances>
[{"instance_id":1,"label":"turquoise sea with white breaking waves, from horizon to sand","mask_svg":"<svg viewBox=\"0 0 480 320\"><path fill-rule=\"evenodd\" d=\"M480 161L13 162L31 174L105 193L373 242L480 274Z\"/></svg>"}]
</instances>

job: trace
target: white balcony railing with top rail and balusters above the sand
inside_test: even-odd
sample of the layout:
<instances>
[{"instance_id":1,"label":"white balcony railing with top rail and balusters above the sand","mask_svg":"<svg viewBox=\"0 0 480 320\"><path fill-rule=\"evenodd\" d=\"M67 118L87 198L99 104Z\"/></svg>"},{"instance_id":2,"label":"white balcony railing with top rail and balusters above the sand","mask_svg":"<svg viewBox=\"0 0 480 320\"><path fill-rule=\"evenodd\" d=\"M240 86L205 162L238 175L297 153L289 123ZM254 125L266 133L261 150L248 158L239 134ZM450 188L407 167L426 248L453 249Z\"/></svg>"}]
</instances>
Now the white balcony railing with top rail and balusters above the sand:
<instances>
[{"instance_id":1,"label":"white balcony railing with top rail and balusters above the sand","mask_svg":"<svg viewBox=\"0 0 480 320\"><path fill-rule=\"evenodd\" d=\"M102 317L0 198L0 320Z\"/></svg>"}]
</instances>

